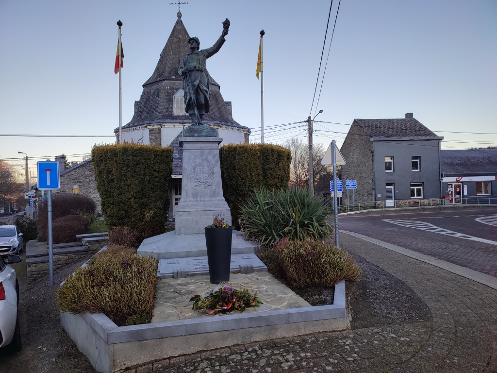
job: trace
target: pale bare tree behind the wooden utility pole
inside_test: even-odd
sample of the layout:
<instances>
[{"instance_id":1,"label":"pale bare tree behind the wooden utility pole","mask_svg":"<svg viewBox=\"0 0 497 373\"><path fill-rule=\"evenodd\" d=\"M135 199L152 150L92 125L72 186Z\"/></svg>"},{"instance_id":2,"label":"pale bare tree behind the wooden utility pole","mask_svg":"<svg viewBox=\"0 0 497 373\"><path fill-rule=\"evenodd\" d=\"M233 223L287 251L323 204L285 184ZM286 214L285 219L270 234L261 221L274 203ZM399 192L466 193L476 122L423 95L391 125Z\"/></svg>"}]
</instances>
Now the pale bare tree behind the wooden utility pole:
<instances>
[{"instance_id":1,"label":"pale bare tree behind the wooden utility pole","mask_svg":"<svg viewBox=\"0 0 497 373\"><path fill-rule=\"evenodd\" d=\"M290 186L309 186L309 146L302 140L293 138L283 144L292 152L292 163L290 164ZM314 184L323 175L330 172L329 166L323 166L321 160L325 156L326 149L323 144L317 143L313 146L313 170Z\"/></svg>"}]
</instances>

